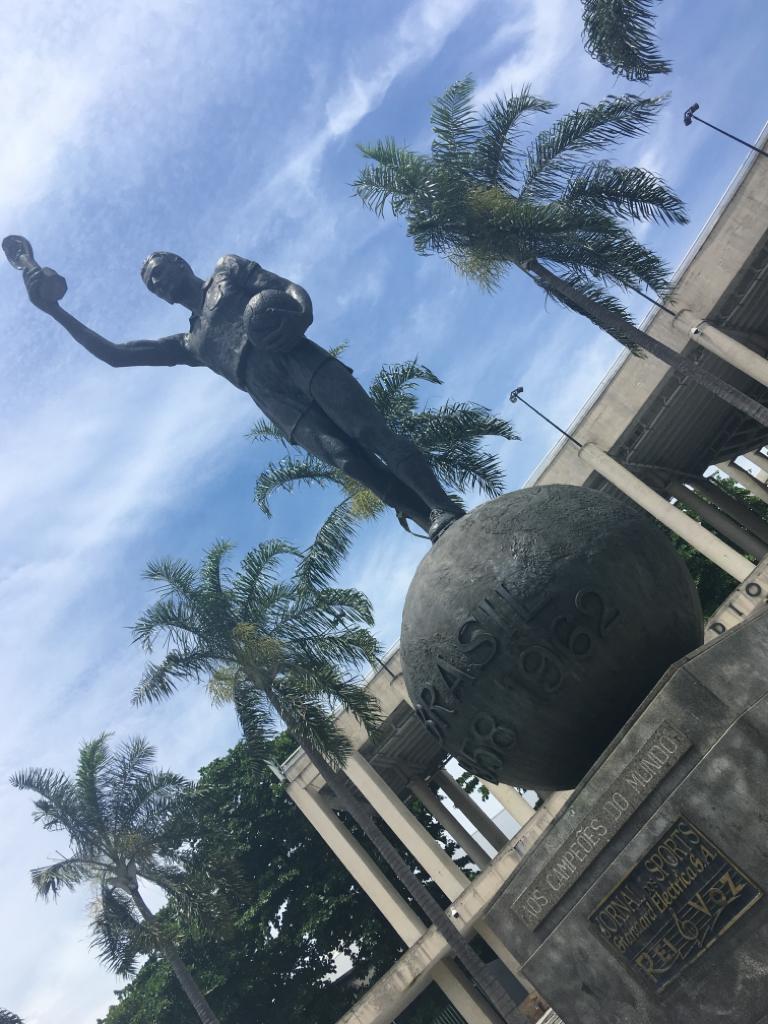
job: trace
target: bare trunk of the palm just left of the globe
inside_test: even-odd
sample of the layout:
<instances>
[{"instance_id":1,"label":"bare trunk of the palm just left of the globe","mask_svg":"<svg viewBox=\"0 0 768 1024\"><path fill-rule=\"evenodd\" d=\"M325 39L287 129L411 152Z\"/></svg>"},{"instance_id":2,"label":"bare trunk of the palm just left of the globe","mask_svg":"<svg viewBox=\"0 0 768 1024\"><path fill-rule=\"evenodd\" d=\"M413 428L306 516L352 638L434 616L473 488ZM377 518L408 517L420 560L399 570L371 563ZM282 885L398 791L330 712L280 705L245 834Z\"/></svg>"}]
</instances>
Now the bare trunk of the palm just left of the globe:
<instances>
[{"instance_id":1,"label":"bare trunk of the palm just left of the globe","mask_svg":"<svg viewBox=\"0 0 768 1024\"><path fill-rule=\"evenodd\" d=\"M290 729L291 723L286 721L286 724ZM470 978L480 987L502 1020L506 1024L524 1024L524 1018L518 1013L509 992L493 976L487 965L483 964L469 942L467 942L458 928L449 919L437 900L426 886L423 886L419 882L403 858L394 846L392 846L381 828L379 828L371 807L368 803L358 800L350 792L351 783L346 775L343 772L334 771L308 743L304 743L303 749L321 776L333 790L340 806L368 836L381 854L384 862L404 887L416 905L424 912L427 920L449 944L456 958L467 970Z\"/></svg>"}]
</instances>

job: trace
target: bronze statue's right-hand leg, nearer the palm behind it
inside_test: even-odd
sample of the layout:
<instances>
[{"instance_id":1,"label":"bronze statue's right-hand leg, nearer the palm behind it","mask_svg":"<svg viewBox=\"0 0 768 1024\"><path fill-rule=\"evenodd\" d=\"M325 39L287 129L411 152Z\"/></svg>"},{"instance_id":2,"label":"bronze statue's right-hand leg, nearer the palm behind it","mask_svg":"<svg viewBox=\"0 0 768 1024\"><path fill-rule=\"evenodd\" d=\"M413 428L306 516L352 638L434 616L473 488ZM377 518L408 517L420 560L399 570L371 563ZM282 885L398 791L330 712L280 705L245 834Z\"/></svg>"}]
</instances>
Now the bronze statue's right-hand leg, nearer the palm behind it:
<instances>
[{"instance_id":1,"label":"bronze statue's right-hand leg, nearer the palm behind it","mask_svg":"<svg viewBox=\"0 0 768 1024\"><path fill-rule=\"evenodd\" d=\"M349 371L336 359L325 362L311 385L312 397L331 420L361 447L374 452L430 512L461 515L462 511L440 486L432 467L408 437L394 433Z\"/></svg>"}]
</instances>

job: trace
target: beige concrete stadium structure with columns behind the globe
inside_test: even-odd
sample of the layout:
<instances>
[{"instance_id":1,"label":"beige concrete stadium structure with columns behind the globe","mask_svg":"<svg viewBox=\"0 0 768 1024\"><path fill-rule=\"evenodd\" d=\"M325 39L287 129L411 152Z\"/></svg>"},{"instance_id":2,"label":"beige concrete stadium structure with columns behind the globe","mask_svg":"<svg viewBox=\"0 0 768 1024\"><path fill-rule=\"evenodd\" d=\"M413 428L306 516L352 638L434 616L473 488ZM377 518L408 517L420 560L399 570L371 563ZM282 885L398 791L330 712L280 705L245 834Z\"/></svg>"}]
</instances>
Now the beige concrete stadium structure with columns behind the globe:
<instances>
[{"instance_id":1,"label":"beige concrete stadium structure with columns behind the globe","mask_svg":"<svg viewBox=\"0 0 768 1024\"><path fill-rule=\"evenodd\" d=\"M758 144L765 146L768 132ZM768 404L768 161L750 158L714 211L676 274L670 311L653 309L643 328L676 351ZM707 479L719 467L768 503L768 428L652 357L623 355L569 427L581 447L563 438L527 481L612 488L684 536L734 580L734 591L710 620L708 637L739 622L768 600L768 526ZM738 461L737 461L738 460ZM672 500L684 500L698 525ZM713 530L717 531L716 536ZM444 770L446 755L426 733L406 695L399 656L392 650L368 681L386 724L374 742L351 718L341 728L354 754L346 773L362 797L451 901L447 913L465 934L480 935L519 995L522 1012L542 1024L536 993L485 914L523 856L568 800L542 795L538 810L510 786L488 788L515 822L508 836ZM374 901L408 947L339 1024L391 1024L435 982L467 1024L499 1018L447 955L444 940L426 928L391 881L337 815L302 752L282 766L288 794L328 842L357 886ZM441 799L440 794L445 798ZM478 868L467 878L403 802L417 797ZM457 812L459 817L457 817ZM489 855L487 850L493 850Z\"/></svg>"}]
</instances>

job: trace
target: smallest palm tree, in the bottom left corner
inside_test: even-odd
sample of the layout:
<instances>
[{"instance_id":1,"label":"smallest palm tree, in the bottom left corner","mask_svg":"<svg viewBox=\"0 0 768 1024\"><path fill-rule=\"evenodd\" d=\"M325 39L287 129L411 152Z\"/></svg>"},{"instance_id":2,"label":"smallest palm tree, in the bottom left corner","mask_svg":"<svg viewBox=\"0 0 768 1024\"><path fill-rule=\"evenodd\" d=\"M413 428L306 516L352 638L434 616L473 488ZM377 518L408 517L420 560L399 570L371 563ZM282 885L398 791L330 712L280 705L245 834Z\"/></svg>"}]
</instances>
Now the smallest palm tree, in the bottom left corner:
<instances>
[{"instance_id":1,"label":"smallest palm tree, in the bottom left corner","mask_svg":"<svg viewBox=\"0 0 768 1024\"><path fill-rule=\"evenodd\" d=\"M184 872L168 854L163 834L189 783L153 768L155 750L141 737L111 751L109 735L82 744L74 777L51 768L29 768L11 785L38 795L34 818L47 831L69 836L70 854L32 871L43 899L56 899L82 883L95 883L91 947L121 977L136 970L142 953L160 952L203 1024L218 1024L161 922L148 908L139 882L187 898Z\"/></svg>"}]
</instances>

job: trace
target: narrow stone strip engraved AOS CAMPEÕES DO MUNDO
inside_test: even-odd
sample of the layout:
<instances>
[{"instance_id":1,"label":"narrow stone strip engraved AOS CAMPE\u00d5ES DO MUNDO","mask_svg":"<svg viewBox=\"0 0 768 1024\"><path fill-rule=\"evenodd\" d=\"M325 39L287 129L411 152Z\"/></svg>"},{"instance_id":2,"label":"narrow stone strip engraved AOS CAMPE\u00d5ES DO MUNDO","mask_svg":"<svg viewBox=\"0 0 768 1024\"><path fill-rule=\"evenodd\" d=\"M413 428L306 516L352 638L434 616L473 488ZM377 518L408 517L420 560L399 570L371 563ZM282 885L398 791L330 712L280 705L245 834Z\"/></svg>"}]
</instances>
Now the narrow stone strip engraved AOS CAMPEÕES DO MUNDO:
<instances>
[{"instance_id":1,"label":"narrow stone strip engraved AOS CAMPE\u00d5ES DO MUNDO","mask_svg":"<svg viewBox=\"0 0 768 1024\"><path fill-rule=\"evenodd\" d=\"M690 748L668 722L652 733L624 771L598 799L593 815L572 828L513 904L530 929L538 928L622 825Z\"/></svg>"}]
</instances>

